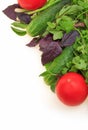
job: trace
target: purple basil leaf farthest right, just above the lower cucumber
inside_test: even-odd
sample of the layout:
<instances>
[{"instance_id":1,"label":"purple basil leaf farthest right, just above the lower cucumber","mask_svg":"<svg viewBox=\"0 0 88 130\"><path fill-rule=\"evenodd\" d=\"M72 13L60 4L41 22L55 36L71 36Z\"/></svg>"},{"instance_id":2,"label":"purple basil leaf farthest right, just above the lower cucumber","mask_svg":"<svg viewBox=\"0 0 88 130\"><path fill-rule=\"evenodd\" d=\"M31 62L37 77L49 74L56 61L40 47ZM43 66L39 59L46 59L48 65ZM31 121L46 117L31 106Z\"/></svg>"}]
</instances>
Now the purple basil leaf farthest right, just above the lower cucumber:
<instances>
[{"instance_id":1,"label":"purple basil leaf farthest right, just above the lower cucumber","mask_svg":"<svg viewBox=\"0 0 88 130\"><path fill-rule=\"evenodd\" d=\"M66 47L66 46L72 45L75 42L76 38L79 36L80 36L80 34L76 30L71 31L68 34L65 33L62 38L61 44L60 44L61 47Z\"/></svg>"}]
</instances>

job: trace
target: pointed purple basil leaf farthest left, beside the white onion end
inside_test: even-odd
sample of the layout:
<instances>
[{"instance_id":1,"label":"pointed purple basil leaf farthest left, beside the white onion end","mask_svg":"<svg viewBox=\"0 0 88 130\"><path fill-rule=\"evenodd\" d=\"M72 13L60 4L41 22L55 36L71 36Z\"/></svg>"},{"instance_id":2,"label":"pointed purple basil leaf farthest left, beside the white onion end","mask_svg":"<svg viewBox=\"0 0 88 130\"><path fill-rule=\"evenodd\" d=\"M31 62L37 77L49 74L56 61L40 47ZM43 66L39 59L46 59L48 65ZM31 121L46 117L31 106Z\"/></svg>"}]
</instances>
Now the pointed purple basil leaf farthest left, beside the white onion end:
<instances>
[{"instance_id":1,"label":"pointed purple basil leaf farthest left, beside the white onion end","mask_svg":"<svg viewBox=\"0 0 88 130\"><path fill-rule=\"evenodd\" d=\"M15 12L16 8L20 8L20 6L18 4L13 4L8 6L6 9L3 10L3 13L9 17L12 20L16 21L17 18L17 13Z\"/></svg>"}]
</instances>

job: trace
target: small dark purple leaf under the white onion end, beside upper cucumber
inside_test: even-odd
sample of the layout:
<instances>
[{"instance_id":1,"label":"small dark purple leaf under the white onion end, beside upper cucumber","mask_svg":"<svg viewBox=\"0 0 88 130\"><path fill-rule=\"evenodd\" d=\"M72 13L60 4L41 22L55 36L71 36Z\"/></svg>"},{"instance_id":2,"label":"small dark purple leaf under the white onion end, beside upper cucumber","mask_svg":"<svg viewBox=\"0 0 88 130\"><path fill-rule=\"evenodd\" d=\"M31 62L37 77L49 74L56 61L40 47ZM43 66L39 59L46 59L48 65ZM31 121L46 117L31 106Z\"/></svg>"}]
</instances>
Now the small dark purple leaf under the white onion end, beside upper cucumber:
<instances>
[{"instance_id":1,"label":"small dark purple leaf under the white onion end, beside upper cucumber","mask_svg":"<svg viewBox=\"0 0 88 130\"><path fill-rule=\"evenodd\" d=\"M29 24L31 21L30 15L25 14L25 13L17 13L17 17L20 20L20 22L25 23L25 24Z\"/></svg>"}]
</instances>

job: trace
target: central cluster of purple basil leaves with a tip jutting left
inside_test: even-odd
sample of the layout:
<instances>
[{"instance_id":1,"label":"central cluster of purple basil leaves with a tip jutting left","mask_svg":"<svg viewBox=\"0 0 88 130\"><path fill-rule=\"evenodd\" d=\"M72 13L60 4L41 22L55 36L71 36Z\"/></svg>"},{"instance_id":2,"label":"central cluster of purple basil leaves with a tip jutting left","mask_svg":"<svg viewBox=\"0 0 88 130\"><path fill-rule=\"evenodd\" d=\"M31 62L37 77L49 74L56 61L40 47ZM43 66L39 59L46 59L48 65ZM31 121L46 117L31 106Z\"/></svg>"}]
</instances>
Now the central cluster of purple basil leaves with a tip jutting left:
<instances>
[{"instance_id":1,"label":"central cluster of purple basil leaves with a tip jutting left","mask_svg":"<svg viewBox=\"0 0 88 130\"><path fill-rule=\"evenodd\" d=\"M34 47L39 44L40 50L43 52L41 56L42 64L46 64L53 61L61 52L62 48L59 45L59 41L53 41L53 36L48 34L43 38L33 38L30 43L27 44L28 47Z\"/></svg>"}]
</instances>

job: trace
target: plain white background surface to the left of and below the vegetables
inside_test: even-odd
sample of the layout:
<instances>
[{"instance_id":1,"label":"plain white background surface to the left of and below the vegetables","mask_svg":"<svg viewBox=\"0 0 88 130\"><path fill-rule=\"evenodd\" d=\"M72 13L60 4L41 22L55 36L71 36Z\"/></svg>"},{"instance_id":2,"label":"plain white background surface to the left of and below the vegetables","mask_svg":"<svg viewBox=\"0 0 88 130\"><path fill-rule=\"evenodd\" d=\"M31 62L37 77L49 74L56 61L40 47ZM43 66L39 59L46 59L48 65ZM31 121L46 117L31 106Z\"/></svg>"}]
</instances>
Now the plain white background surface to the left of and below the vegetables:
<instances>
[{"instance_id":1,"label":"plain white background surface to the left of and below the vegetables","mask_svg":"<svg viewBox=\"0 0 88 130\"><path fill-rule=\"evenodd\" d=\"M88 130L88 98L63 105L45 85L38 48L17 36L2 10L16 0L0 0L0 130Z\"/></svg>"}]
</instances>

